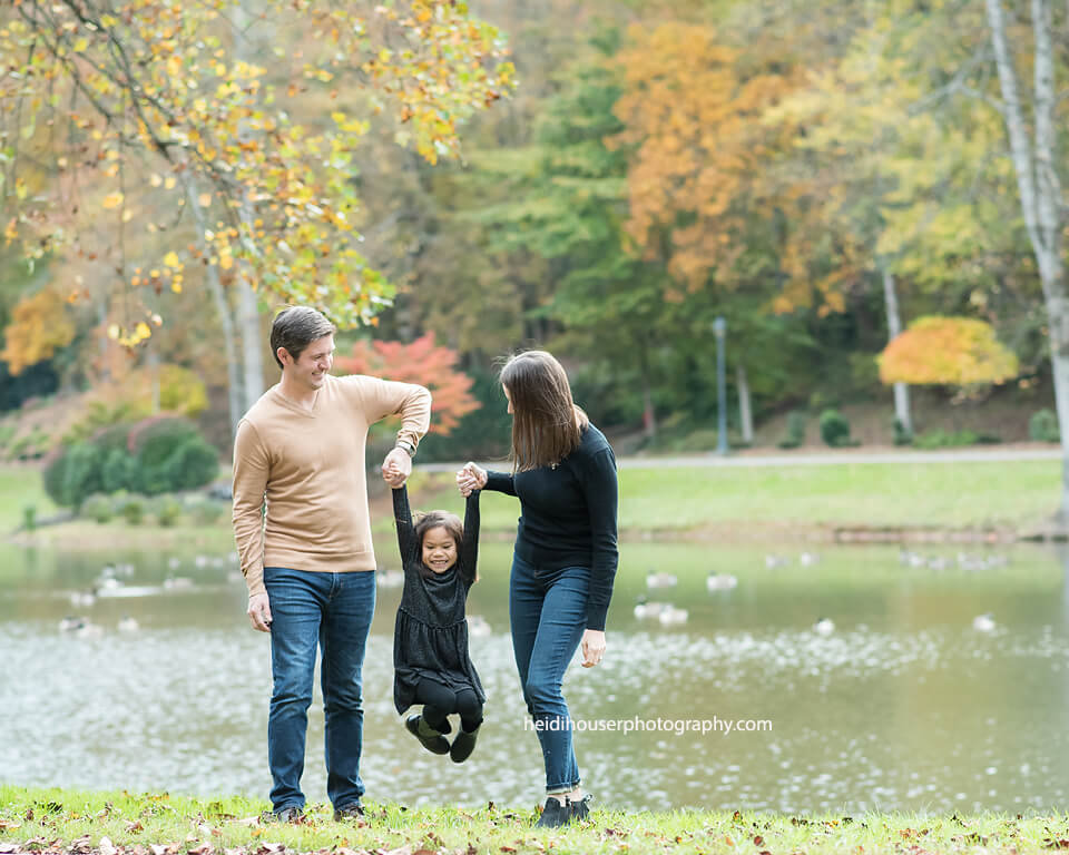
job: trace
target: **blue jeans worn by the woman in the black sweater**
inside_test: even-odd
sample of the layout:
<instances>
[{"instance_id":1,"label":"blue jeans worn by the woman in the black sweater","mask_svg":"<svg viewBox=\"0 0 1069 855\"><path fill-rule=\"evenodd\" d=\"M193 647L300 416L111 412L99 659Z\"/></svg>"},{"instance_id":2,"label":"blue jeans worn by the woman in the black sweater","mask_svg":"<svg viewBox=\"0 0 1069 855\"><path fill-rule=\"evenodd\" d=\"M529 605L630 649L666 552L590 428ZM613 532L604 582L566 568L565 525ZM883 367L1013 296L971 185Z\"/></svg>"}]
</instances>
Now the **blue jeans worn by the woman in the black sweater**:
<instances>
[{"instance_id":1,"label":"blue jeans worn by the woman in the black sweater","mask_svg":"<svg viewBox=\"0 0 1069 855\"><path fill-rule=\"evenodd\" d=\"M523 699L546 761L546 792L579 786L571 718L560 686L587 628L590 568L540 569L512 557L509 619Z\"/></svg>"}]
</instances>

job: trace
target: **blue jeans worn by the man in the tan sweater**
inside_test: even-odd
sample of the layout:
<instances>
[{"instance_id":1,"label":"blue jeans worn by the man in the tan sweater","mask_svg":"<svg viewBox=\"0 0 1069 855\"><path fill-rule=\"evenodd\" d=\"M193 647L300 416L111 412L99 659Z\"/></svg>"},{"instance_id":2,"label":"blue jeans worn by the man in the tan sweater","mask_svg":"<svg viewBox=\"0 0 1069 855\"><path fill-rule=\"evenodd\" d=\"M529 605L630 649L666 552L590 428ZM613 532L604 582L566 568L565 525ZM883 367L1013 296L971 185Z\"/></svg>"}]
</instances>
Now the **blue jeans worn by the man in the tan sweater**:
<instances>
[{"instance_id":1,"label":"blue jeans worn by the man in the tan sweater","mask_svg":"<svg viewBox=\"0 0 1069 855\"><path fill-rule=\"evenodd\" d=\"M335 808L364 794L360 749L364 729L361 669L375 610L375 574L323 573L268 567L273 689L267 761L275 810L304 807L301 775L315 675L322 650L326 721L326 793Z\"/></svg>"}]
</instances>

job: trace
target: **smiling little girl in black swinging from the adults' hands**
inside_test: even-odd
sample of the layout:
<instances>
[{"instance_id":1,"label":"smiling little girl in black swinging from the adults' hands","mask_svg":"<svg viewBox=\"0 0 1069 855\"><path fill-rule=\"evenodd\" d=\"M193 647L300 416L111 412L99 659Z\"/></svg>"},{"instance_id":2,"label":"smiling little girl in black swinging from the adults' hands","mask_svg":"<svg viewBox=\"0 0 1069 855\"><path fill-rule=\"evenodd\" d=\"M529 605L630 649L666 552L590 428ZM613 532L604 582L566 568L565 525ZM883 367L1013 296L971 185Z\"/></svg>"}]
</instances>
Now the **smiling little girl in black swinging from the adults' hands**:
<instances>
[{"instance_id":1,"label":"smiling little girl in black swinging from the adults' hands","mask_svg":"<svg viewBox=\"0 0 1069 855\"><path fill-rule=\"evenodd\" d=\"M468 497L464 522L431 511L415 524L404 487L393 491L393 515L404 568L404 592L393 635L393 700L400 715L413 704L423 714L404 726L423 747L463 763L475 748L487 699L468 655L464 603L475 581L479 552L479 493ZM447 716L460 714L460 733L450 745Z\"/></svg>"}]
</instances>

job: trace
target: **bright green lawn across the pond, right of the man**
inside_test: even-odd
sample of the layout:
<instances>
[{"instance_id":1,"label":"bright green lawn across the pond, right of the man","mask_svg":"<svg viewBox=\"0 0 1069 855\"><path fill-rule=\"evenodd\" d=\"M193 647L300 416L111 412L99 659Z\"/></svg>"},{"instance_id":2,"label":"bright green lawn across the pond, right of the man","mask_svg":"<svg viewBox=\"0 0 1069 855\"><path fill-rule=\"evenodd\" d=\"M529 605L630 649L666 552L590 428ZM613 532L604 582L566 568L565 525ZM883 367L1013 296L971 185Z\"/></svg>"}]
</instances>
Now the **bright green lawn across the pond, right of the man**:
<instances>
[{"instance_id":1,"label":"bright green lawn across the pond, right of the man","mask_svg":"<svg viewBox=\"0 0 1069 855\"><path fill-rule=\"evenodd\" d=\"M1029 525L1055 512L1060 479L1057 461L625 469L620 528ZM413 504L461 508L451 481L451 475L429 478ZM487 493L482 511L487 530L508 529L516 524L519 502Z\"/></svg>"}]
</instances>

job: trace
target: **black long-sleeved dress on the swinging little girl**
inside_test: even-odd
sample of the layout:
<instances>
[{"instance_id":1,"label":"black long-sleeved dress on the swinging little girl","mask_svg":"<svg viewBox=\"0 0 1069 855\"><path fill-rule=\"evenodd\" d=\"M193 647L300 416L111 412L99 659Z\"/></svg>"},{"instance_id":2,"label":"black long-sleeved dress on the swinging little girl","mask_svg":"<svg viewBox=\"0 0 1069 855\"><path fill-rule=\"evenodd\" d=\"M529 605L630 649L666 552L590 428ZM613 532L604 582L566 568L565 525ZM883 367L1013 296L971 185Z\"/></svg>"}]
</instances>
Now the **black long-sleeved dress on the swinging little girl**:
<instances>
[{"instance_id":1,"label":"black long-sleeved dress on the swinging little girl","mask_svg":"<svg viewBox=\"0 0 1069 855\"><path fill-rule=\"evenodd\" d=\"M404 569L404 592L393 632L393 702L400 715L415 700L421 679L431 679L459 691L471 689L486 702L487 696L468 655L468 621L464 603L475 580L479 557L479 491L468 497L464 509L464 542L457 563L444 573L424 577L422 543L416 541L409 510L409 493L393 491L393 515Z\"/></svg>"}]
</instances>

